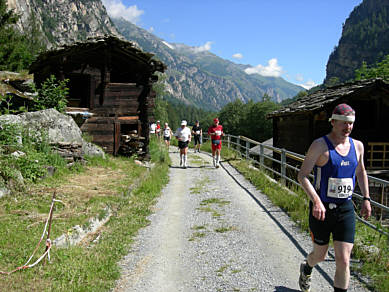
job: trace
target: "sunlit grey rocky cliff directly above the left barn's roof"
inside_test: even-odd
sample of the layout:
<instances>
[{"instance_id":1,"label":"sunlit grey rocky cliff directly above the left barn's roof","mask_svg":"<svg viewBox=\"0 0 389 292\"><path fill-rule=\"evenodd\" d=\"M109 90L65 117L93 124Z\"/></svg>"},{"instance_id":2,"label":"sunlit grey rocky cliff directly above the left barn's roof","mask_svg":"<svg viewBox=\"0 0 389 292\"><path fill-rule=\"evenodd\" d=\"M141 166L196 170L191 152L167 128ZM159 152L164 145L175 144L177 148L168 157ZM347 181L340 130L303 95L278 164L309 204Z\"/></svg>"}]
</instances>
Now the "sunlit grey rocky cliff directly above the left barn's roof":
<instances>
[{"instance_id":1,"label":"sunlit grey rocky cliff directly above the left barn's roof","mask_svg":"<svg viewBox=\"0 0 389 292\"><path fill-rule=\"evenodd\" d=\"M100 0L7 0L21 15L18 28L35 24L48 48L104 34L119 35Z\"/></svg>"}]
</instances>

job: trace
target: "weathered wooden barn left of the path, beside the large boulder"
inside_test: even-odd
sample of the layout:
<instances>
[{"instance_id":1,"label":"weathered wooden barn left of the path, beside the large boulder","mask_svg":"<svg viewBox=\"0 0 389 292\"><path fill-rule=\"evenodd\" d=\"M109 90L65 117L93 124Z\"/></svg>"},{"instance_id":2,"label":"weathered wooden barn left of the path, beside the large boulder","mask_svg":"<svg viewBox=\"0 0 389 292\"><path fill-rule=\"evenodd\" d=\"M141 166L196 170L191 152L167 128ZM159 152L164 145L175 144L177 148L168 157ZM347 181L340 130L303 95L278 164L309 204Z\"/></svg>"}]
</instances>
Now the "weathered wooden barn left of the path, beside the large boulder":
<instances>
[{"instance_id":1,"label":"weathered wooden barn left of the path, beside the large boulder","mask_svg":"<svg viewBox=\"0 0 389 292\"><path fill-rule=\"evenodd\" d=\"M107 153L129 154L132 145L146 154L154 121L152 85L158 80L155 73L165 70L153 56L131 42L106 36L42 53L30 73L38 86L50 75L69 80L67 113L81 114L81 130Z\"/></svg>"}]
</instances>

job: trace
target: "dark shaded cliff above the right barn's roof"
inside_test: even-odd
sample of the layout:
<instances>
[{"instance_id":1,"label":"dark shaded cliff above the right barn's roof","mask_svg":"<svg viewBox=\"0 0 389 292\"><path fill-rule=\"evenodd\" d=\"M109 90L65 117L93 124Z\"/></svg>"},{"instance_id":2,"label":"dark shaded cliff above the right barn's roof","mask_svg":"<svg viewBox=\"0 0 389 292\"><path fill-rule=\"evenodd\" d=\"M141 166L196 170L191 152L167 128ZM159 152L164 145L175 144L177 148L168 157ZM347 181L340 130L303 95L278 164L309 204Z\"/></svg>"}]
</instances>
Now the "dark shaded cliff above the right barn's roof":
<instances>
[{"instance_id":1,"label":"dark shaded cliff above the right barn's roof","mask_svg":"<svg viewBox=\"0 0 389 292\"><path fill-rule=\"evenodd\" d=\"M355 77L362 62L374 65L389 54L389 0L364 0L346 20L338 46L327 63L325 83Z\"/></svg>"}]
</instances>

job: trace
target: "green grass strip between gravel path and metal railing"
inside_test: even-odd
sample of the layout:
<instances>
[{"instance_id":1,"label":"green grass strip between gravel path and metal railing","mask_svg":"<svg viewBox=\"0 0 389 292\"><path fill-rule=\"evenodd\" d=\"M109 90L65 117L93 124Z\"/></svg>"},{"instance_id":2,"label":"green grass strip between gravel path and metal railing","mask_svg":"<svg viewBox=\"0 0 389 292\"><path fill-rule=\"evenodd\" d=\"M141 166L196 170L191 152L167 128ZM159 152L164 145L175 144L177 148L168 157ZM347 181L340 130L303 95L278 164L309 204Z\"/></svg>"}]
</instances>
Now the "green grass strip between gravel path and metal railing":
<instances>
[{"instance_id":1,"label":"green grass strip between gravel path and metal railing","mask_svg":"<svg viewBox=\"0 0 389 292\"><path fill-rule=\"evenodd\" d=\"M210 151L209 143L206 143L202 149ZM270 180L271 174L265 174L265 172L250 167L247 160L241 159L235 151L226 147L223 147L222 156L254 186L266 194L275 205L286 211L302 230L309 231L308 199L300 188L292 189L294 193L292 195L281 184ZM370 222L374 224L374 219L371 218ZM389 291L389 245L386 236L357 221L352 257L353 262L356 262L352 264L353 272L367 276L369 278L368 286L371 289Z\"/></svg>"}]
</instances>

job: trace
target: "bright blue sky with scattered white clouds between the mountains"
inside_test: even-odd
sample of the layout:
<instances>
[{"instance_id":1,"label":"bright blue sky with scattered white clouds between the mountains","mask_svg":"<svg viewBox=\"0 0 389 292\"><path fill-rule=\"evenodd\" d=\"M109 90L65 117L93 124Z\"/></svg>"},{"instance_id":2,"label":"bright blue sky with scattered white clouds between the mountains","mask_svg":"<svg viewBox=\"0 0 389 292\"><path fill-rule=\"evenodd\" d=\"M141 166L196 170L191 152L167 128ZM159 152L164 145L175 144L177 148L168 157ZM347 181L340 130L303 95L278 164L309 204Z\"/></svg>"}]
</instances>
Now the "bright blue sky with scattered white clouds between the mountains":
<instances>
[{"instance_id":1,"label":"bright blue sky with scattered white clouds between the mountains","mask_svg":"<svg viewBox=\"0 0 389 292\"><path fill-rule=\"evenodd\" d=\"M362 0L102 0L110 15L198 47L248 74L321 84L342 24Z\"/></svg>"}]
</instances>

